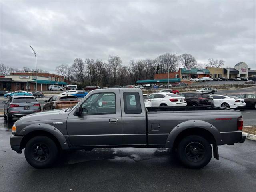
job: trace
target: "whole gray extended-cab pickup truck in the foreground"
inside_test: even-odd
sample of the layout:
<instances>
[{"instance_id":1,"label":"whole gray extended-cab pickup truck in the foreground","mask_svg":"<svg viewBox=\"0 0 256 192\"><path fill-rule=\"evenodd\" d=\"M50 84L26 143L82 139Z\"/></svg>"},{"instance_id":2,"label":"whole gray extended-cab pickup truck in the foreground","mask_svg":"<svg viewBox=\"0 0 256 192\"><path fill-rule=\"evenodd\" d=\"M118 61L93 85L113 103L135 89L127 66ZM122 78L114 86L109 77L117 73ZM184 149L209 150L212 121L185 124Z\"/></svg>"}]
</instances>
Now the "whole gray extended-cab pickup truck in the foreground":
<instances>
[{"instance_id":1,"label":"whole gray extended-cab pickup truck in the foreground","mask_svg":"<svg viewBox=\"0 0 256 192\"><path fill-rule=\"evenodd\" d=\"M20 118L12 127L10 144L17 153L25 148L25 158L35 168L52 166L60 150L106 147L171 148L185 166L202 168L212 153L218 159L218 145L244 142L242 127L238 110L145 108L140 89L98 89L73 108Z\"/></svg>"}]
</instances>

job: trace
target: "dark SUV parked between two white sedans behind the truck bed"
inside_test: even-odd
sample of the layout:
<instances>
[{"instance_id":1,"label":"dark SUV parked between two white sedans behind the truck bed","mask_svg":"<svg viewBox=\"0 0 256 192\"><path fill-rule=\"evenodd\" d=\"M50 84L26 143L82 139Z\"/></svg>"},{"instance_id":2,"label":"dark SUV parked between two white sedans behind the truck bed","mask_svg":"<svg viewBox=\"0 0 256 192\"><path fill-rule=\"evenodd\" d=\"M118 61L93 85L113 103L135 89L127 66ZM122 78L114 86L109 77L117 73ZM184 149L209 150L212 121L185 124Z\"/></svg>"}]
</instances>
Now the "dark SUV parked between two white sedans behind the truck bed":
<instances>
[{"instance_id":1,"label":"dark SUV parked between two white sedans behind the truck bed","mask_svg":"<svg viewBox=\"0 0 256 192\"><path fill-rule=\"evenodd\" d=\"M186 98L187 105L197 106L197 105L214 105L212 97L209 93L197 93L197 92L188 92L179 94Z\"/></svg>"}]
</instances>

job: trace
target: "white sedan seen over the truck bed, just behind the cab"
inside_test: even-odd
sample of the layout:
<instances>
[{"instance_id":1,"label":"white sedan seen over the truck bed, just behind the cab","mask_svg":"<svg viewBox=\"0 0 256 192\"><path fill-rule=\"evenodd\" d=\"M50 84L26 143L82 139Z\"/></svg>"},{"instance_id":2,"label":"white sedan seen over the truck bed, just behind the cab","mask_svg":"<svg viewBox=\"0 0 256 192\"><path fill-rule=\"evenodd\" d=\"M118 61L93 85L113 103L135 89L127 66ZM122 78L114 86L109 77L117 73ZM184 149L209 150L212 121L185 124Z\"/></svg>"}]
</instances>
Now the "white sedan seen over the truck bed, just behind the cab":
<instances>
[{"instance_id":1,"label":"white sedan seen over the truck bed, just behind the cab","mask_svg":"<svg viewBox=\"0 0 256 192\"><path fill-rule=\"evenodd\" d=\"M148 98L150 98L153 107L187 105L184 97L174 93L152 93Z\"/></svg>"}]
</instances>

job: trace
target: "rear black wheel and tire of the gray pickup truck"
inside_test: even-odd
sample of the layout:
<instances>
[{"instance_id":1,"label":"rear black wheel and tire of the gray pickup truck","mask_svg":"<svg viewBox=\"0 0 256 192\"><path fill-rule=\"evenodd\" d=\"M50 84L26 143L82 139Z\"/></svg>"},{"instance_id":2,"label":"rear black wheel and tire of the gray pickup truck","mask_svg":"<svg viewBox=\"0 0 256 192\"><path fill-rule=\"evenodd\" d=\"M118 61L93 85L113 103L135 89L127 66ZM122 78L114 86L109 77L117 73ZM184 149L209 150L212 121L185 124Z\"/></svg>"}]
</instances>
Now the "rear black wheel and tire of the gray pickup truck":
<instances>
[{"instance_id":1,"label":"rear black wheel and tire of the gray pickup truck","mask_svg":"<svg viewBox=\"0 0 256 192\"><path fill-rule=\"evenodd\" d=\"M203 168L212 158L210 143L198 135L183 138L178 145L177 152L182 164L188 168Z\"/></svg>"}]
</instances>

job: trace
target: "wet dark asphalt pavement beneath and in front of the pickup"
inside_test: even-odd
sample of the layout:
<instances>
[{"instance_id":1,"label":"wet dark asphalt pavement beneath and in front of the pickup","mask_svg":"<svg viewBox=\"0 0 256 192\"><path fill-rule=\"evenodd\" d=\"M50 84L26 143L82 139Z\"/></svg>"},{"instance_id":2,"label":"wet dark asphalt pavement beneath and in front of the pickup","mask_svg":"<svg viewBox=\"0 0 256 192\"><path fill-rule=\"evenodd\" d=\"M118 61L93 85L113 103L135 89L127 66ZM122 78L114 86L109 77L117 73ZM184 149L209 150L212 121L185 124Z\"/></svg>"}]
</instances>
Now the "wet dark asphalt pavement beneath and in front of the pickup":
<instances>
[{"instance_id":1,"label":"wet dark asphalt pavement beneath and in front of the pickup","mask_svg":"<svg viewBox=\"0 0 256 192\"><path fill-rule=\"evenodd\" d=\"M13 122L12 122L13 123ZM10 148L12 123L0 119L0 191L255 191L256 142L219 146L220 160L212 158L200 169L184 168L166 148L102 148L60 155L48 169L35 169L24 150Z\"/></svg>"}]
</instances>

